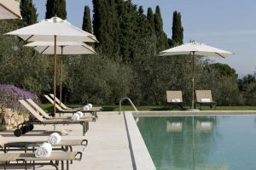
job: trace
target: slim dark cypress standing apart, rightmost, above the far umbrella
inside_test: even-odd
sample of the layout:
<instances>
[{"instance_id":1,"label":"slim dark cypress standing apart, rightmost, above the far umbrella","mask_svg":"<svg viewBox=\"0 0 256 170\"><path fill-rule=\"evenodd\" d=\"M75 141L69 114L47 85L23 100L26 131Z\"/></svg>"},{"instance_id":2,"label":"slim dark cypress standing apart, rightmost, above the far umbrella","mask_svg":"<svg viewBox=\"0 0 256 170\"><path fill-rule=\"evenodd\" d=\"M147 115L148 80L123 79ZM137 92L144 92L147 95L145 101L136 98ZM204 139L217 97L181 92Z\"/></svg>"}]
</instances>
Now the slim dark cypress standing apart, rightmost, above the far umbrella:
<instances>
[{"instance_id":1,"label":"slim dark cypress standing apart, rightmost, above the far umbrella","mask_svg":"<svg viewBox=\"0 0 256 170\"><path fill-rule=\"evenodd\" d=\"M177 11L173 12L172 19L172 44L171 47L183 44L183 26L181 21L181 14Z\"/></svg>"}]
</instances>

